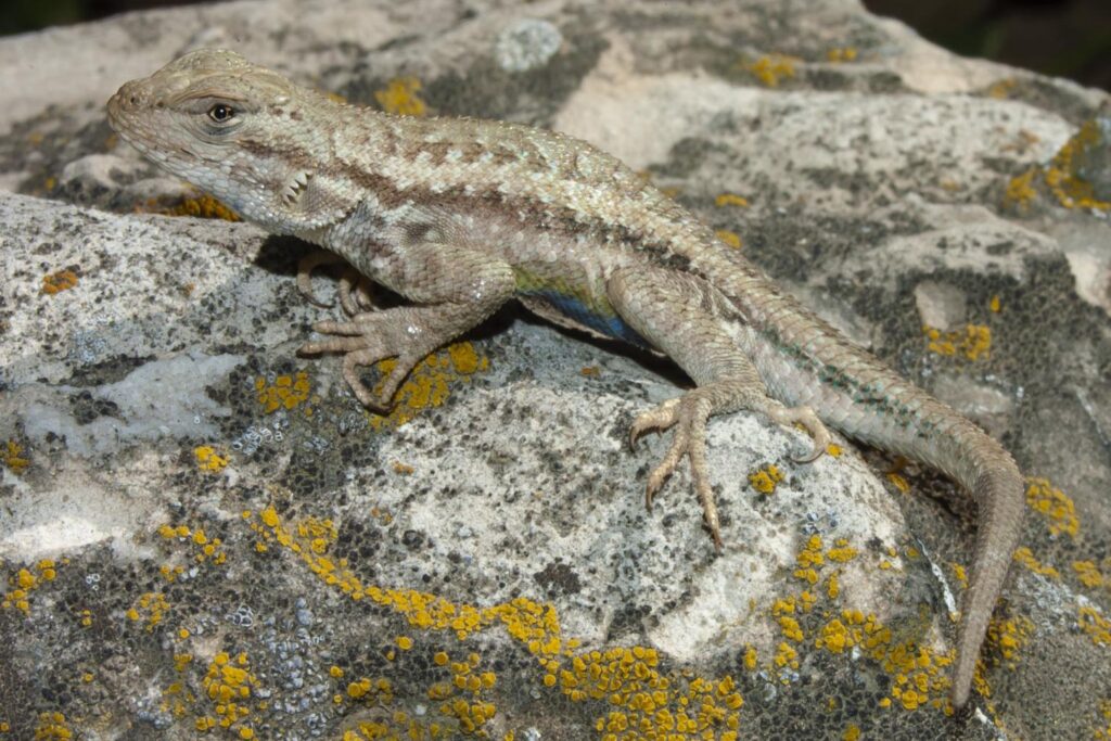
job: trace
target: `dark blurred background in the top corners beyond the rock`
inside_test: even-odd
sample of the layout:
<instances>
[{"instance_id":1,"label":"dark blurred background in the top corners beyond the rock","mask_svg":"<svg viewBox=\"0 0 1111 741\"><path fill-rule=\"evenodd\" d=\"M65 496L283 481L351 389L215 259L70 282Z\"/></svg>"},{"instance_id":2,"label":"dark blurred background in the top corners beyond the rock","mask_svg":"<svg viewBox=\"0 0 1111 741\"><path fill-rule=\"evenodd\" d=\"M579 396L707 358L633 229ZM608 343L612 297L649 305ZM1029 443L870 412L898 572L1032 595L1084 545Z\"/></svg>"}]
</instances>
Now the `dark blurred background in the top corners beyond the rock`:
<instances>
[{"instance_id":1,"label":"dark blurred background in the top corners beyond the rock","mask_svg":"<svg viewBox=\"0 0 1111 741\"><path fill-rule=\"evenodd\" d=\"M4 0L0 34L190 0ZM1111 0L864 0L967 57L1111 90Z\"/></svg>"}]
</instances>

